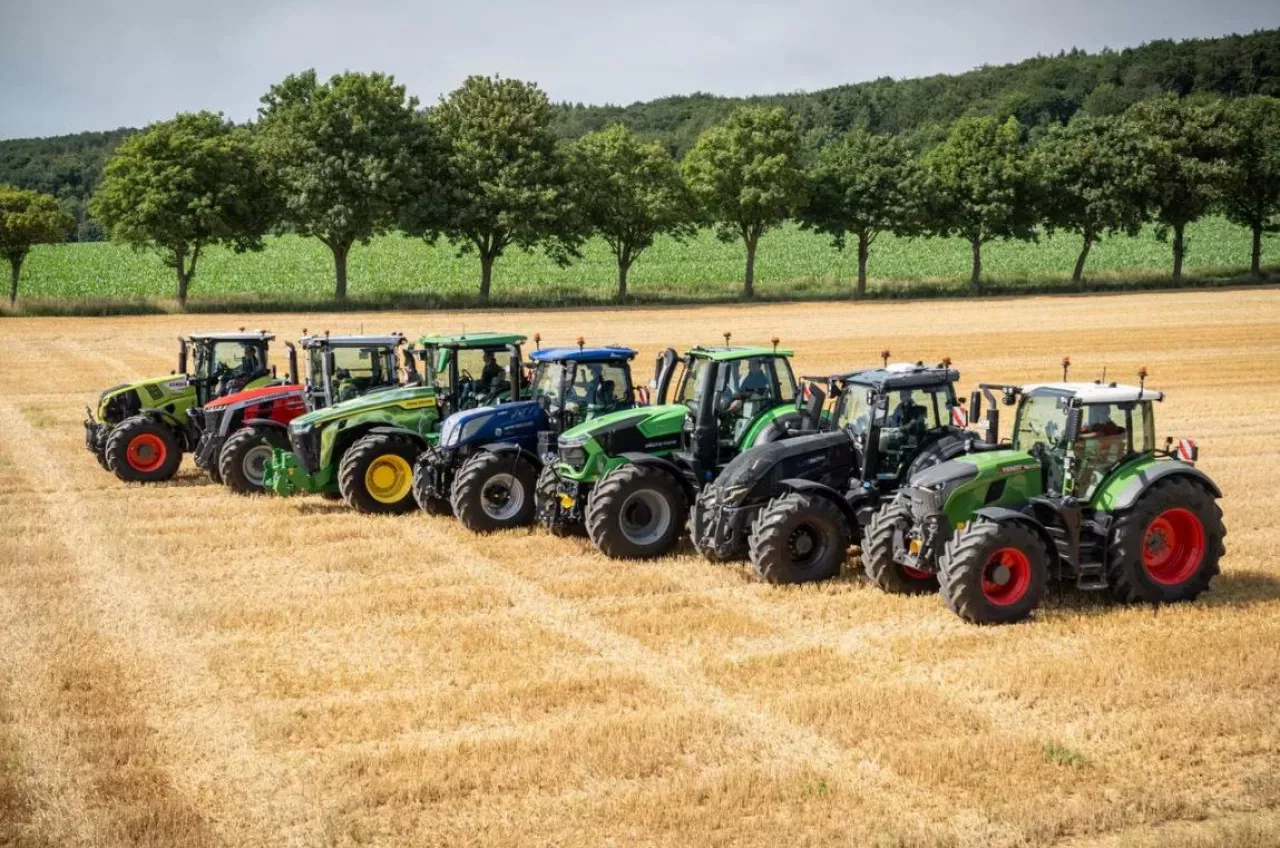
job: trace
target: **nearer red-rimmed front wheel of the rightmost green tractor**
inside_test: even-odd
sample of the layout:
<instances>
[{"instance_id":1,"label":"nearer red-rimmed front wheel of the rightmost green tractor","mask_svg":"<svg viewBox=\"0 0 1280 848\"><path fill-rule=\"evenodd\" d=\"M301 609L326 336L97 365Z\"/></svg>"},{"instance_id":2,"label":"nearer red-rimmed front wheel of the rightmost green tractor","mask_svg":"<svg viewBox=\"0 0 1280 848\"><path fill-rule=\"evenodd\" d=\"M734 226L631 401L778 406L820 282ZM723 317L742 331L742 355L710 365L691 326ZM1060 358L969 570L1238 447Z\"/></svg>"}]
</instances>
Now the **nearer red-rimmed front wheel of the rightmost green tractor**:
<instances>
[{"instance_id":1,"label":"nearer red-rimmed front wheel of the rightmost green tractor","mask_svg":"<svg viewBox=\"0 0 1280 848\"><path fill-rule=\"evenodd\" d=\"M977 519L942 552L942 597L974 624L1021 621L1044 596L1047 560L1044 543L1030 528Z\"/></svg>"}]
</instances>

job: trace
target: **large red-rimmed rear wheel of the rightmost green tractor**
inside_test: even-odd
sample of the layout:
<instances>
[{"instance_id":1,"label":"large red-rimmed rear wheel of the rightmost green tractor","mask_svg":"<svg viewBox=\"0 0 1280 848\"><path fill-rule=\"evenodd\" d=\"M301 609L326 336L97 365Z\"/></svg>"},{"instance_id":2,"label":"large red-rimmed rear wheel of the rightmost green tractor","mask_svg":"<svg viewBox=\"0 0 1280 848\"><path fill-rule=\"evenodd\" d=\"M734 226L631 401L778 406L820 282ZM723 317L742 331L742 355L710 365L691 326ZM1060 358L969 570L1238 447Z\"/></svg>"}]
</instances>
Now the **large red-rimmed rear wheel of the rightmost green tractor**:
<instances>
[{"instance_id":1,"label":"large red-rimmed rear wheel of the rightmost green tractor","mask_svg":"<svg viewBox=\"0 0 1280 848\"><path fill-rule=\"evenodd\" d=\"M1152 485L1115 524L1108 551L1111 594L1124 603L1192 601L1217 574L1222 510L1185 479Z\"/></svg>"}]
</instances>

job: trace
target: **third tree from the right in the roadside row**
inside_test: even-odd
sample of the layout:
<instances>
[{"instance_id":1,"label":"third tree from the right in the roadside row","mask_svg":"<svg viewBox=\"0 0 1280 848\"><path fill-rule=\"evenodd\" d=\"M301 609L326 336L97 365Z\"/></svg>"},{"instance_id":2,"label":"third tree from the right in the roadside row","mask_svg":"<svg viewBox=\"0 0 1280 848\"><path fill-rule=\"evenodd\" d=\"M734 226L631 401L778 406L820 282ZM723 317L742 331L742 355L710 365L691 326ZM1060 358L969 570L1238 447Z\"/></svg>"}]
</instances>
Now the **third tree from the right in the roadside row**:
<instances>
[{"instance_id":1,"label":"third tree from the right in the roadside row","mask_svg":"<svg viewBox=\"0 0 1280 848\"><path fill-rule=\"evenodd\" d=\"M1051 127L1032 154L1039 208L1050 232L1083 242L1071 279L1079 283L1089 250L1105 234L1137 234L1146 219L1143 138L1123 118L1079 117Z\"/></svg>"}]
</instances>

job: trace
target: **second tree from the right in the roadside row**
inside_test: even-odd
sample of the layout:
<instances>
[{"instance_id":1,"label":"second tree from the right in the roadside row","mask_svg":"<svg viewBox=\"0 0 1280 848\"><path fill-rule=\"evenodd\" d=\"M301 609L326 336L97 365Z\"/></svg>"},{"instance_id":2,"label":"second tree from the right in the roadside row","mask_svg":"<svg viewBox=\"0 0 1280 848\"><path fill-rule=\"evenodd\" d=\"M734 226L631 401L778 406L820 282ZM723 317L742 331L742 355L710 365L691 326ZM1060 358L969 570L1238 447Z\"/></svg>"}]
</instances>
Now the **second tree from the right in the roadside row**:
<instances>
[{"instance_id":1,"label":"second tree from the right in the roadside row","mask_svg":"<svg viewBox=\"0 0 1280 848\"><path fill-rule=\"evenodd\" d=\"M1161 95L1126 113L1143 137L1143 191L1164 238L1174 234L1174 279L1183 274L1187 224L1208 214L1221 197L1228 169L1228 133L1221 104Z\"/></svg>"}]
</instances>

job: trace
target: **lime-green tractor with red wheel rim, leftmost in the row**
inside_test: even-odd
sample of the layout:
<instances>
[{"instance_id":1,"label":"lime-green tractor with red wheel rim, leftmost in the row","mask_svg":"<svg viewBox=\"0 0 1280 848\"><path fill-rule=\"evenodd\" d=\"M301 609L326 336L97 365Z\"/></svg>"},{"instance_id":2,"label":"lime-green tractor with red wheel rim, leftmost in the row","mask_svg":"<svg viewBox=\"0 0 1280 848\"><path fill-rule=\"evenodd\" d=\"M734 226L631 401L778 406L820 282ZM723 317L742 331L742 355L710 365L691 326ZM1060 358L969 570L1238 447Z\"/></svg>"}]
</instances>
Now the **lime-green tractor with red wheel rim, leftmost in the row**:
<instances>
[{"instance_id":1,"label":"lime-green tractor with red wheel rim, leftmost in the row","mask_svg":"<svg viewBox=\"0 0 1280 848\"><path fill-rule=\"evenodd\" d=\"M192 333L178 339L178 370L102 392L97 415L84 409L84 446L99 464L125 482L169 480L182 455L200 441L192 411L211 400L276 383L268 369L265 330ZM195 369L187 373L195 354Z\"/></svg>"}]
</instances>

